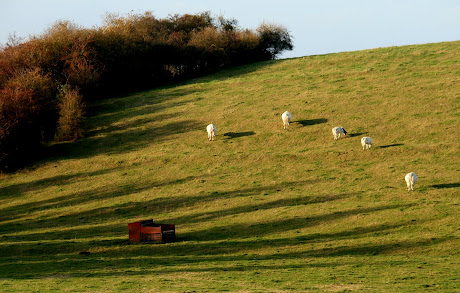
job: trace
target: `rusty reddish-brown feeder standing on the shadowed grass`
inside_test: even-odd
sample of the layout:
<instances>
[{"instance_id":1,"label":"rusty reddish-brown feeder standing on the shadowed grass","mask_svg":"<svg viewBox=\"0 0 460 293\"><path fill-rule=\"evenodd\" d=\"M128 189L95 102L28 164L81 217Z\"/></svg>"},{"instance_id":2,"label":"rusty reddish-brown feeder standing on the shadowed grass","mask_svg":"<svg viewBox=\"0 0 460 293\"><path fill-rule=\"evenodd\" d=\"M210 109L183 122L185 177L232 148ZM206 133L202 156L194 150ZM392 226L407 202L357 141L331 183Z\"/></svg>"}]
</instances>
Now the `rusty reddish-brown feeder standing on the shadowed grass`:
<instances>
[{"instance_id":1,"label":"rusty reddish-brown feeder standing on the shadowed grass","mask_svg":"<svg viewBox=\"0 0 460 293\"><path fill-rule=\"evenodd\" d=\"M129 242L172 242L176 240L174 224L157 224L153 220L129 223Z\"/></svg>"}]
</instances>

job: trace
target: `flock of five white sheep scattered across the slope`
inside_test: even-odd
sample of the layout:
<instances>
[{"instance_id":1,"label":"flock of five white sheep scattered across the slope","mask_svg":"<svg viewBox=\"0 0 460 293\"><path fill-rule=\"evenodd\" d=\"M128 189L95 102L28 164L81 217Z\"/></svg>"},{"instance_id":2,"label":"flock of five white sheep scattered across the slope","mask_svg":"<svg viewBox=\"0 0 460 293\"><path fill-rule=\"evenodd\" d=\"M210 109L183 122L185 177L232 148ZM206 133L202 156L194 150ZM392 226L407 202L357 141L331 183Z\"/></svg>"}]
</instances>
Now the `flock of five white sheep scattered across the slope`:
<instances>
[{"instance_id":1,"label":"flock of five white sheep scattered across the slope","mask_svg":"<svg viewBox=\"0 0 460 293\"><path fill-rule=\"evenodd\" d=\"M289 113L288 111L284 112L281 115L281 120L283 120L283 128L287 129L288 126L289 126L289 123L292 120L291 113ZM215 139L216 133L217 133L216 126L211 123L206 127L206 131L208 132L208 139L210 141L213 141ZM338 140L339 138L341 138L342 136L344 136L346 134L347 134L347 131L341 126L332 128L332 135L334 136L335 140ZM370 138L368 136L365 136L365 137L361 138L361 145L363 147L363 150L370 149L372 147L372 138ZM414 191L414 185L415 185L415 183L417 182L417 179L418 179L417 175L414 172L410 172L410 173L406 174L404 179L406 180L407 190L408 191L411 191L411 190Z\"/></svg>"}]
</instances>

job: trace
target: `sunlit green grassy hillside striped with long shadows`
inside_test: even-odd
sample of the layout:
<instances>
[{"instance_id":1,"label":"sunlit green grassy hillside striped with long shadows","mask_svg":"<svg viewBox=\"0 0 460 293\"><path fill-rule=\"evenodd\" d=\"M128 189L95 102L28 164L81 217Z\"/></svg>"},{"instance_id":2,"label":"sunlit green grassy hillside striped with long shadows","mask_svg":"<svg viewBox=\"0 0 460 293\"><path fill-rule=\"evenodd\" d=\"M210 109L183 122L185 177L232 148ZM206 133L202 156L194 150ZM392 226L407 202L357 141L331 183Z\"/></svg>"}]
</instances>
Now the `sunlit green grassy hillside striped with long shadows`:
<instances>
[{"instance_id":1,"label":"sunlit green grassy hillside striped with long shadows","mask_svg":"<svg viewBox=\"0 0 460 293\"><path fill-rule=\"evenodd\" d=\"M0 175L0 291L458 292L459 106L460 42L94 103L86 138ZM178 241L129 245L151 218Z\"/></svg>"}]
</instances>

